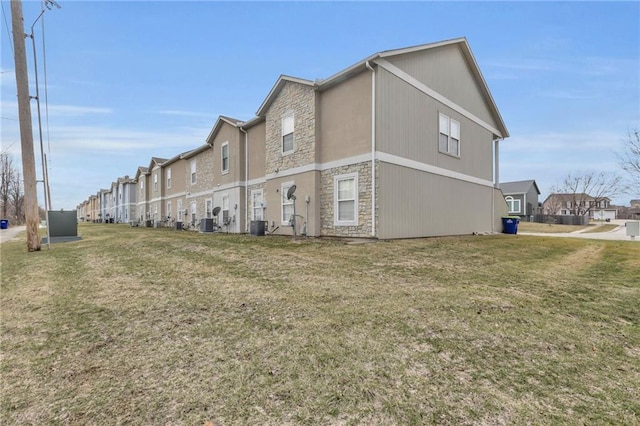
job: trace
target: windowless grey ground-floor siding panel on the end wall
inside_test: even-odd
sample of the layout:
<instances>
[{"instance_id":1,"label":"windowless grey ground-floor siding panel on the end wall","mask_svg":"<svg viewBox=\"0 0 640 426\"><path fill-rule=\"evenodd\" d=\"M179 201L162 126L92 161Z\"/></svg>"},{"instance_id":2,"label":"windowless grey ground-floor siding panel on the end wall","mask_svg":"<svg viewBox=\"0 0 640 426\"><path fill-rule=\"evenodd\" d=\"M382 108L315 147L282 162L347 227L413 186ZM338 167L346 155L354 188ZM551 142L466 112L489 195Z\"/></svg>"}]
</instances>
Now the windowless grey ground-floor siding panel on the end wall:
<instances>
[{"instance_id":1,"label":"windowless grey ground-floor siding panel on the end wall","mask_svg":"<svg viewBox=\"0 0 640 426\"><path fill-rule=\"evenodd\" d=\"M493 231L499 211L492 207L494 188L388 163L378 165L379 238Z\"/></svg>"}]
</instances>

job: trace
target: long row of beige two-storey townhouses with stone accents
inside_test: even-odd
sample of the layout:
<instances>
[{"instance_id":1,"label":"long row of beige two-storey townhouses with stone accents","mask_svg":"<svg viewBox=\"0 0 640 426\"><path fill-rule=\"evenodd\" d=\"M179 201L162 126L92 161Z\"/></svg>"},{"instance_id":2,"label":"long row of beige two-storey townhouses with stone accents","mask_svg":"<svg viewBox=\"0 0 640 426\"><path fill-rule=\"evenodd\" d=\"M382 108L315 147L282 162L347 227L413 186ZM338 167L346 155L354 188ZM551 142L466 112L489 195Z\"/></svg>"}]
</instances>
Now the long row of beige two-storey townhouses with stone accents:
<instances>
[{"instance_id":1,"label":"long row of beige two-storey townhouses with stone accents","mask_svg":"<svg viewBox=\"0 0 640 426\"><path fill-rule=\"evenodd\" d=\"M324 80L282 75L254 118L220 116L205 144L151 158L78 217L381 239L500 231L505 137L465 38L385 51Z\"/></svg>"}]
</instances>

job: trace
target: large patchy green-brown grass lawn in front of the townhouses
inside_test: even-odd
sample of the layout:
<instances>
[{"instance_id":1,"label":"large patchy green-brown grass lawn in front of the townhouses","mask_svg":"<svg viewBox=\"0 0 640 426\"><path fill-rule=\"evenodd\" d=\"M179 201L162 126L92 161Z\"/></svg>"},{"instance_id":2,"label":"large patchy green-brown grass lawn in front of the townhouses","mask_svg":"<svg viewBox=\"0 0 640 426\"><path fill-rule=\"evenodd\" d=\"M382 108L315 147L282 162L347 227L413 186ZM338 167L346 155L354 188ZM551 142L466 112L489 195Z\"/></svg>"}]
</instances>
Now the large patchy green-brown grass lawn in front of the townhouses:
<instances>
[{"instance_id":1,"label":"large patchy green-brown grass lawn in front of the townhouses","mask_svg":"<svg viewBox=\"0 0 640 426\"><path fill-rule=\"evenodd\" d=\"M0 245L2 424L638 424L640 245Z\"/></svg>"}]
</instances>

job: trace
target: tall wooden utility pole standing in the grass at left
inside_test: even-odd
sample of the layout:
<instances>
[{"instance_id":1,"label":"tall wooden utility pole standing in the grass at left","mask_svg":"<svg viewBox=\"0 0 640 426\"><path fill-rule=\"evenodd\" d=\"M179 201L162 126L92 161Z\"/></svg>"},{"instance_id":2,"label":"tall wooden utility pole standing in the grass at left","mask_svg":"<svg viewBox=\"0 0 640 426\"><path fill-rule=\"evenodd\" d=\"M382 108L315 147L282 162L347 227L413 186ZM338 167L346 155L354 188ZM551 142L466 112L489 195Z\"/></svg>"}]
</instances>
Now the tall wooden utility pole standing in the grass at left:
<instances>
[{"instance_id":1,"label":"tall wooden utility pole standing in the grass at left","mask_svg":"<svg viewBox=\"0 0 640 426\"><path fill-rule=\"evenodd\" d=\"M40 251L40 214L36 188L36 161L33 152L33 129L29 97L29 76L25 52L24 18L22 0L11 0L13 51L15 55L16 86L18 88L18 118L22 151L22 176L24 178L24 213L27 220L27 249Z\"/></svg>"}]
</instances>

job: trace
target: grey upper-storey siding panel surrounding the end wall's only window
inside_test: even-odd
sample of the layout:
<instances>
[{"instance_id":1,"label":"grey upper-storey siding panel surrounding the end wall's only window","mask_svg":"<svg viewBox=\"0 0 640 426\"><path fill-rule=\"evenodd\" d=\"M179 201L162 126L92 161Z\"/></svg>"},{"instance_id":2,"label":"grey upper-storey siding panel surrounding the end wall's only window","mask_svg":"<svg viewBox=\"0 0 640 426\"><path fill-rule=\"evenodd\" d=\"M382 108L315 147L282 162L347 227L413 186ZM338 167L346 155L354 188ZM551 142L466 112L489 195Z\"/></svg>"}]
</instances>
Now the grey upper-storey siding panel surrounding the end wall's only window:
<instances>
[{"instance_id":1,"label":"grey upper-storey siding panel surrounding the end wall's only window","mask_svg":"<svg viewBox=\"0 0 640 426\"><path fill-rule=\"evenodd\" d=\"M493 180L490 131L378 68L377 149L414 161ZM438 151L442 112L460 122L460 158Z\"/></svg>"}]
</instances>

